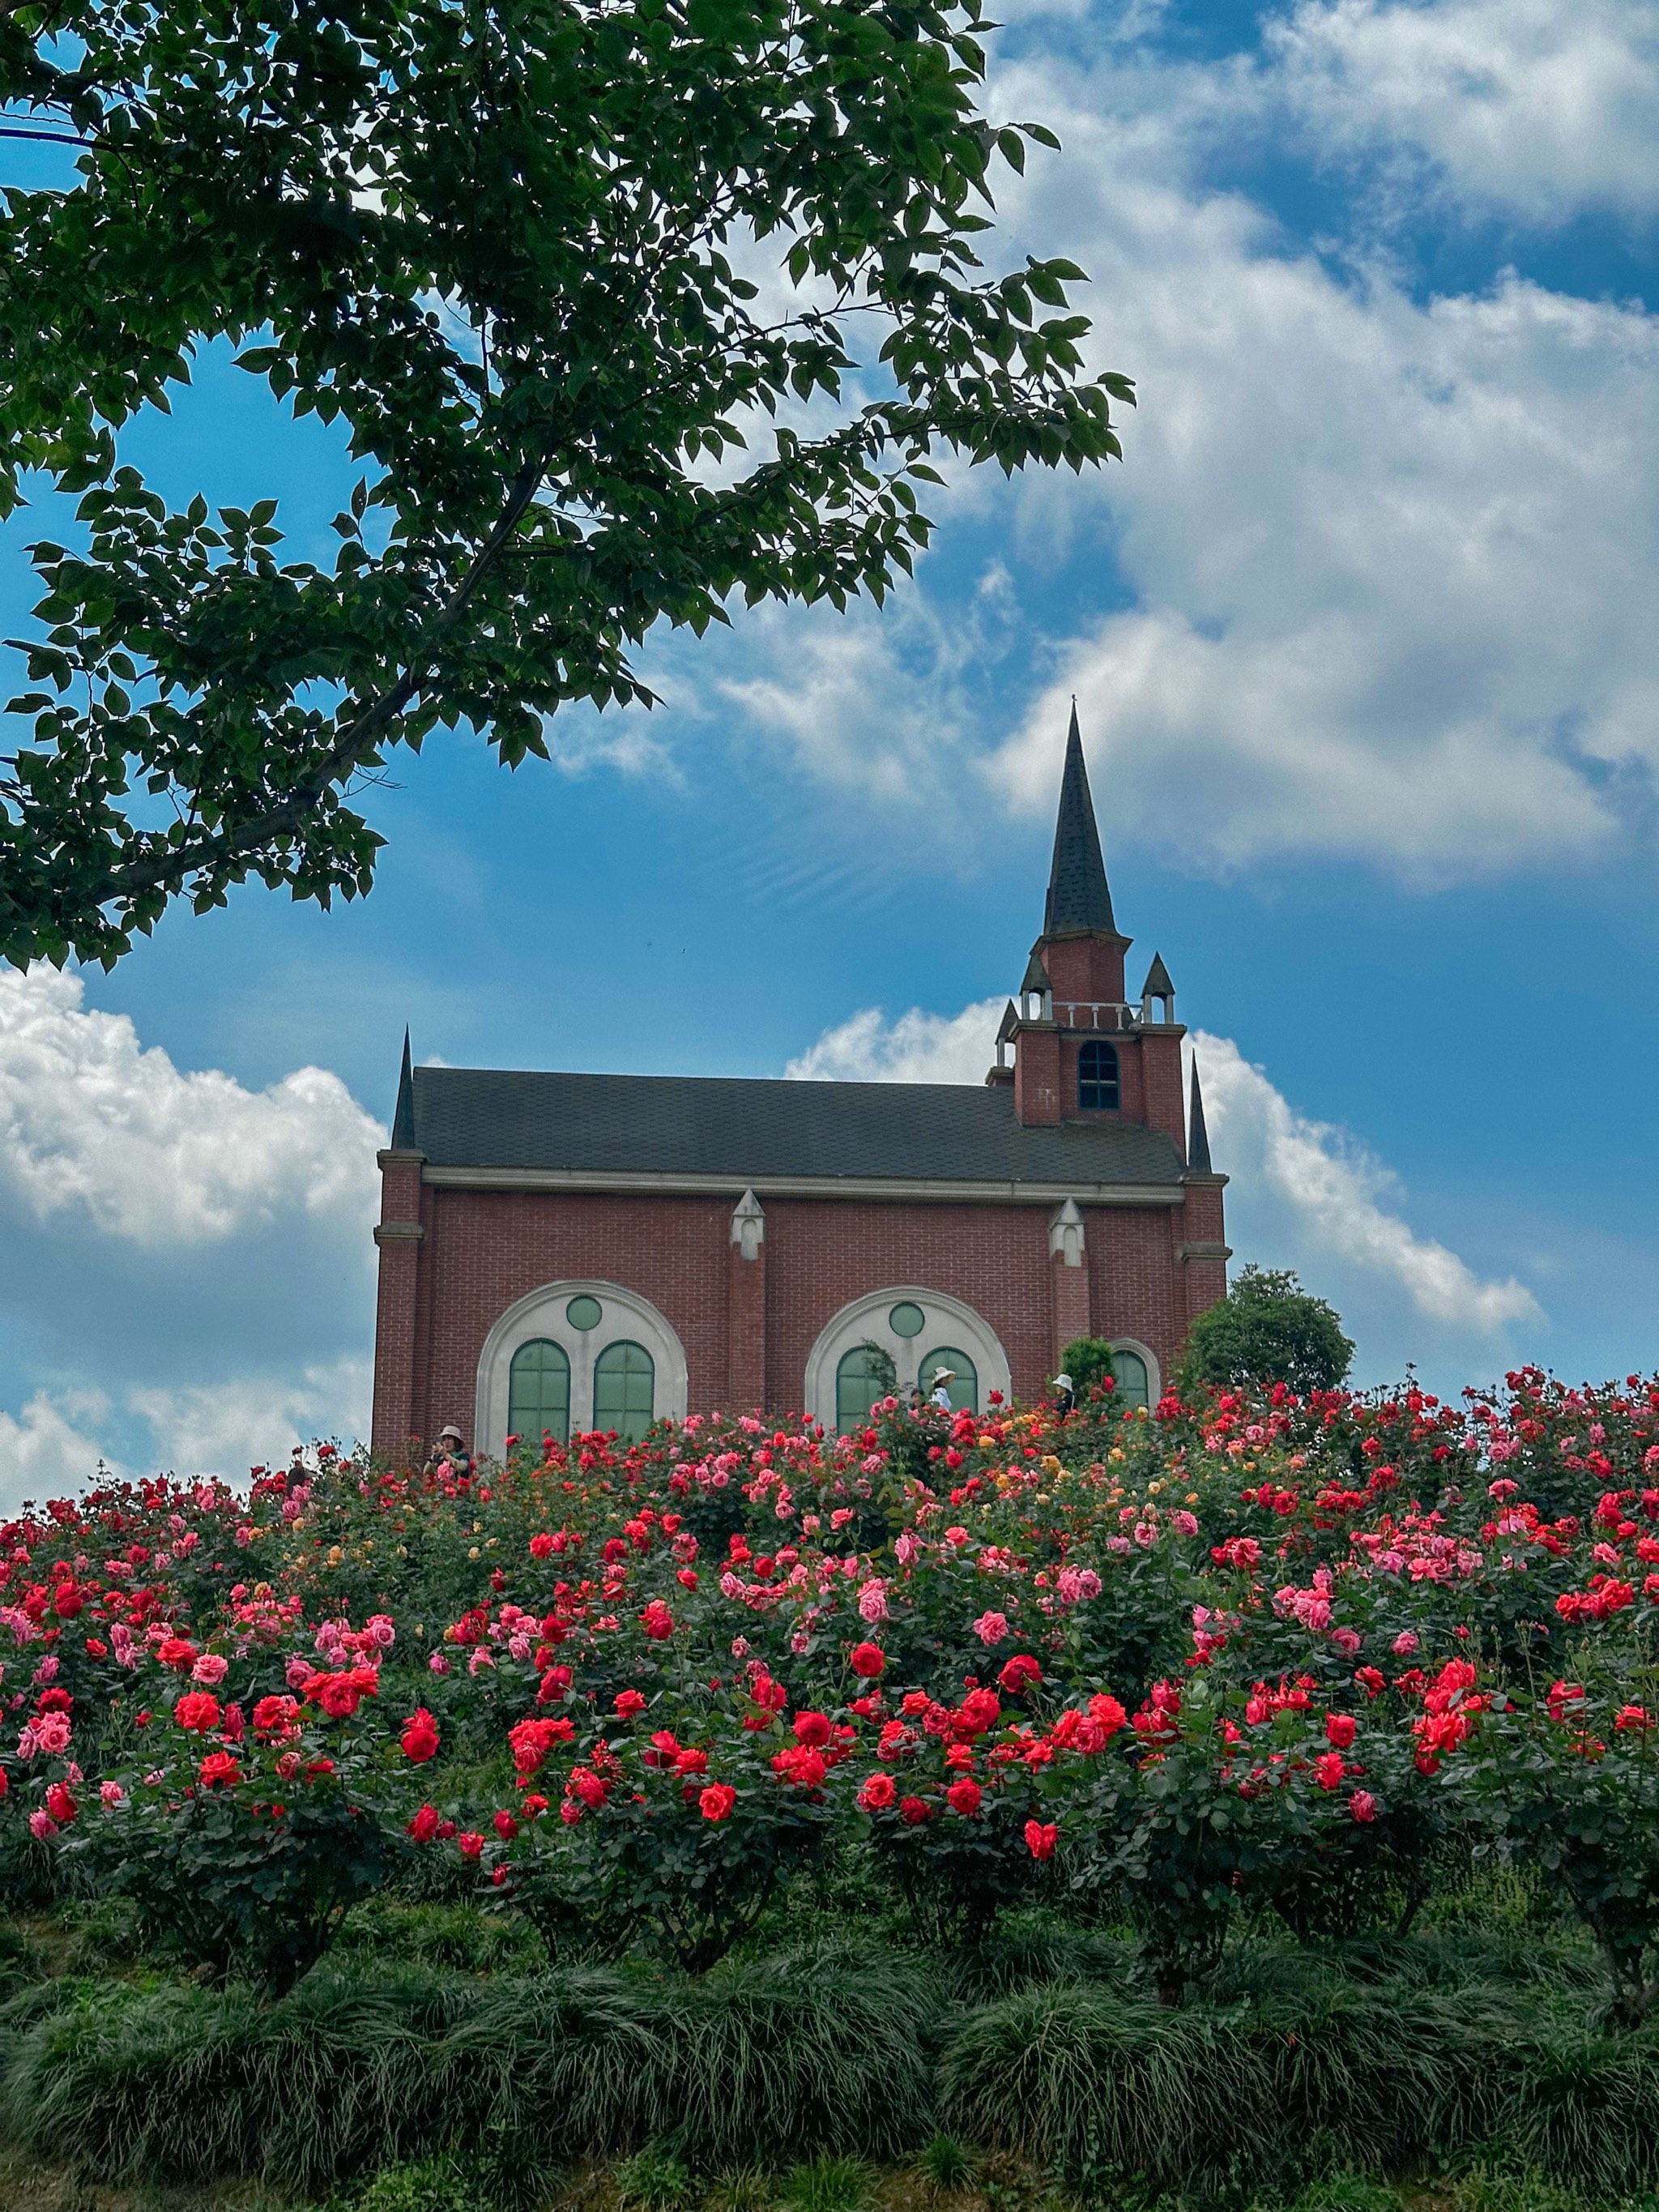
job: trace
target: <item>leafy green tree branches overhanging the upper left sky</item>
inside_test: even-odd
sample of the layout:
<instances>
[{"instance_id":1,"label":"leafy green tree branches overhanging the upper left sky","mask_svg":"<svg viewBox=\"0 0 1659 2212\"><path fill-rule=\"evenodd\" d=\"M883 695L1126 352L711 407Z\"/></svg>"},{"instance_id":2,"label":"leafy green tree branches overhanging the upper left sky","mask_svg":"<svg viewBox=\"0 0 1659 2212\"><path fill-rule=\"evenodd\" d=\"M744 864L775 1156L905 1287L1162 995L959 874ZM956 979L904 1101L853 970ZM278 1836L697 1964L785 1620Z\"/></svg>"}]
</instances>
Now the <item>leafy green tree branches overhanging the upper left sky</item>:
<instances>
[{"instance_id":1,"label":"leafy green tree branches overhanging the upper left sky","mask_svg":"<svg viewBox=\"0 0 1659 2212\"><path fill-rule=\"evenodd\" d=\"M998 161L980 0L40 0L4 135L0 513L40 630L0 763L0 953L111 964L250 874L369 887L354 799L438 723L507 765L732 602L880 599L929 456L1119 451L1082 270L975 254ZM69 164L71 157L64 155ZM122 458L208 341L361 469L332 566L276 498L170 509ZM270 484L281 491L281 453Z\"/></svg>"}]
</instances>

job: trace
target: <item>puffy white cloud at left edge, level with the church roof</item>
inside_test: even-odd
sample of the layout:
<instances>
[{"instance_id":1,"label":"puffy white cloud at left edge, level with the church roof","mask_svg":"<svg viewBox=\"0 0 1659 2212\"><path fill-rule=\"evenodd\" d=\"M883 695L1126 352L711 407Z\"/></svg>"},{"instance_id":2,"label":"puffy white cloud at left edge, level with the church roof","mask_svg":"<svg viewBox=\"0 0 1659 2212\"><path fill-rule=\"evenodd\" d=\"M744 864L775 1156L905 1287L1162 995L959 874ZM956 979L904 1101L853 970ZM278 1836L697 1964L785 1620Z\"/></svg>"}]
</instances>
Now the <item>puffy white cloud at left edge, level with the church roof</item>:
<instances>
[{"instance_id":1,"label":"puffy white cloud at left edge, level with the church roof","mask_svg":"<svg viewBox=\"0 0 1659 2212\"><path fill-rule=\"evenodd\" d=\"M363 1237L383 1130L338 1075L299 1068L246 1091L215 1068L184 1073L82 995L77 975L0 969L0 1194L146 1250L283 1214Z\"/></svg>"}]
</instances>

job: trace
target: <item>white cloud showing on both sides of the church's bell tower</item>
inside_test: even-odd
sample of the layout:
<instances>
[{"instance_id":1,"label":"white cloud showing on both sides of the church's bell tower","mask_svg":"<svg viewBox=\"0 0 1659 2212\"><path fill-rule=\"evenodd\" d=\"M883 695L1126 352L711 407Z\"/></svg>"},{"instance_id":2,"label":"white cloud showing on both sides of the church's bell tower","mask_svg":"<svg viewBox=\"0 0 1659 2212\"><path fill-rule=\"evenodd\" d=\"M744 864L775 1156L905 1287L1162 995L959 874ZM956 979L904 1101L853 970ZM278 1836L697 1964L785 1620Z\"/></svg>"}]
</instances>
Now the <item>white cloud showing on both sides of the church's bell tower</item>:
<instances>
[{"instance_id":1,"label":"white cloud showing on both sides of the church's bell tower","mask_svg":"<svg viewBox=\"0 0 1659 2212\"><path fill-rule=\"evenodd\" d=\"M825 1029L785 1075L878 1084L982 1082L995 1053L1002 1006L1000 998L956 1015L911 1006L891 1022L865 1009ZM1447 1245L1418 1237L1398 1212L1396 1177L1347 1130L1296 1113L1230 1037L1199 1031L1192 1046L1214 1161L1232 1177L1228 1206L1243 1208L1270 1250L1287 1245L1314 1263L1356 1270L1402 1294L1418 1321L1442 1327L1493 1336L1515 1323L1542 1323L1524 1283L1484 1279Z\"/></svg>"}]
</instances>

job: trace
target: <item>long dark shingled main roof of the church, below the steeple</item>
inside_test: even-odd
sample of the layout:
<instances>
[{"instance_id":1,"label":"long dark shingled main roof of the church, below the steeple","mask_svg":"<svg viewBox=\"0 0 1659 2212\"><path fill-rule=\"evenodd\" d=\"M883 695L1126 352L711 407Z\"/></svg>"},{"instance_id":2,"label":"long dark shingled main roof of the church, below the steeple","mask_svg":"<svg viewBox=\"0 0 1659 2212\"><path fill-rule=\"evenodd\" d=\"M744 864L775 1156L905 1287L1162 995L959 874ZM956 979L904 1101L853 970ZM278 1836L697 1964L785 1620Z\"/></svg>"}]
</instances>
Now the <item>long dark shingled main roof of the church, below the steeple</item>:
<instances>
[{"instance_id":1,"label":"long dark shingled main roof of the church, below the steeple","mask_svg":"<svg viewBox=\"0 0 1659 2212\"><path fill-rule=\"evenodd\" d=\"M889 1177L982 1183L1175 1183L1181 1159L1139 1121L1022 1128L1013 1091L726 1075L515 1075L416 1068L414 1150L436 1168L588 1175Z\"/></svg>"}]
</instances>

